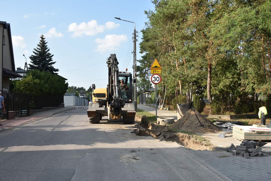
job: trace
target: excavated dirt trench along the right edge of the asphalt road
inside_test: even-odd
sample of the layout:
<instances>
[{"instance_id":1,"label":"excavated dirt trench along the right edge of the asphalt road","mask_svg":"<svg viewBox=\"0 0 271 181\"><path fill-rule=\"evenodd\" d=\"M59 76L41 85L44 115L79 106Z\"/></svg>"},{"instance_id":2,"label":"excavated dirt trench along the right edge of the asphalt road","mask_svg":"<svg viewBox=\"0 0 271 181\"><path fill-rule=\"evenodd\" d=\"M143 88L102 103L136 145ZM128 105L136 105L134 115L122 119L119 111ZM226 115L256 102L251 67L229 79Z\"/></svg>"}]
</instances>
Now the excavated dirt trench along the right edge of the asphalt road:
<instances>
[{"instance_id":1,"label":"excavated dirt trench along the right edge of the asphalt road","mask_svg":"<svg viewBox=\"0 0 271 181\"><path fill-rule=\"evenodd\" d=\"M131 133L137 136L151 136L160 141L172 141L194 150L212 150L212 145L195 140L192 135L171 132L167 126L156 123L147 124L145 116L136 116L135 121L137 122L137 129Z\"/></svg>"}]
</instances>

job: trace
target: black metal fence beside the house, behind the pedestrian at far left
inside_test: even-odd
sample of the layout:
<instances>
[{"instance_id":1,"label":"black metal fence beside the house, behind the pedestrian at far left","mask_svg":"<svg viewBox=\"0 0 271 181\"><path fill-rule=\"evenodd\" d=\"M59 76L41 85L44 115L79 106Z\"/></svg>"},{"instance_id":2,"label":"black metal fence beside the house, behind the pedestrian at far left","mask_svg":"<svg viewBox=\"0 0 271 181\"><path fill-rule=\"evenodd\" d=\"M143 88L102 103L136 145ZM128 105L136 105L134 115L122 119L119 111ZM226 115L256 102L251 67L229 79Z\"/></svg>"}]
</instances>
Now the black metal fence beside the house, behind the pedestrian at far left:
<instances>
[{"instance_id":1,"label":"black metal fence beside the house, behind the pedestrian at far left","mask_svg":"<svg viewBox=\"0 0 271 181\"><path fill-rule=\"evenodd\" d=\"M7 90L2 90L2 96L5 100L5 109L2 119L8 119L7 112L14 111L15 118L29 115L30 96L23 93L11 93Z\"/></svg>"}]
</instances>

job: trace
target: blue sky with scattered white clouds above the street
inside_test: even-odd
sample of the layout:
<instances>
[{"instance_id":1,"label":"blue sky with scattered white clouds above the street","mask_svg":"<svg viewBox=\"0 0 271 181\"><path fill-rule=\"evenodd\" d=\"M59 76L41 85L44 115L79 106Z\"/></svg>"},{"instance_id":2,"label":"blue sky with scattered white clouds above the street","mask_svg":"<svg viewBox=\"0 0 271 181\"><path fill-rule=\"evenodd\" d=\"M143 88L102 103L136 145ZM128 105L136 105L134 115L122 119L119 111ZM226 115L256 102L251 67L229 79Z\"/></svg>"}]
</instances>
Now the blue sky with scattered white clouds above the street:
<instances>
[{"instance_id":1,"label":"blue sky with scattered white clouds above the street","mask_svg":"<svg viewBox=\"0 0 271 181\"><path fill-rule=\"evenodd\" d=\"M54 67L69 86L107 85L107 57L117 55L120 71L133 73L134 24L136 30L148 21L144 10L154 10L150 0L119 1L2 1L0 21L11 25L15 67L24 68L40 34L44 34ZM141 41L141 33L138 43ZM130 47L130 48L129 48ZM137 59L140 59L139 46ZM77 69L77 70L76 70Z\"/></svg>"}]
</instances>

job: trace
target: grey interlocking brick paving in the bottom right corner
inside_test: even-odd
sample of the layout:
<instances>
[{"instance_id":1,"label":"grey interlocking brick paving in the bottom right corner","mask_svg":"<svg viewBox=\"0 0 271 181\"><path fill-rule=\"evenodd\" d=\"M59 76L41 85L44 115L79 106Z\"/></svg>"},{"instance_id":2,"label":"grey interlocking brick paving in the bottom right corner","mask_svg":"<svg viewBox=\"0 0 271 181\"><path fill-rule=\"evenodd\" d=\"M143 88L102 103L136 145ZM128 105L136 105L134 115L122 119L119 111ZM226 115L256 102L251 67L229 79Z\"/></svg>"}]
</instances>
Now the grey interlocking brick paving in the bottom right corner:
<instances>
[{"instance_id":1,"label":"grey interlocking brick paving in the bottom right corner","mask_svg":"<svg viewBox=\"0 0 271 181\"><path fill-rule=\"evenodd\" d=\"M188 150L233 181L271 180L271 156L233 156L227 151Z\"/></svg>"}]
</instances>

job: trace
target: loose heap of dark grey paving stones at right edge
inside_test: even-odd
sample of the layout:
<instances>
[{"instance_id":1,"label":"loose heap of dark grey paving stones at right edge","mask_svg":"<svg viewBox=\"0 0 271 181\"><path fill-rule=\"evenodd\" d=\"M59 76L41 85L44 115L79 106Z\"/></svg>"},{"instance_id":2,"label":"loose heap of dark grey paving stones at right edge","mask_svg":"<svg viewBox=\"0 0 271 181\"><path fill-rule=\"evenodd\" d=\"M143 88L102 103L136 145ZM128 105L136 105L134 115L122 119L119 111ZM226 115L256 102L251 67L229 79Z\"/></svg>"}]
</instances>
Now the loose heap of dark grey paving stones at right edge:
<instances>
[{"instance_id":1,"label":"loose heap of dark grey paving stones at right edge","mask_svg":"<svg viewBox=\"0 0 271 181\"><path fill-rule=\"evenodd\" d=\"M265 144L267 144L267 143L264 143L262 141L256 142L256 141L244 140L244 141L242 141L240 146L237 145L235 147L234 144L231 144L230 147L226 148L226 151L232 152L233 155L243 156L246 159L249 159L249 156L258 156L258 157L264 156L264 157L267 157L267 156L270 156L271 151L264 151L260 147L260 146L263 146Z\"/></svg>"}]
</instances>

